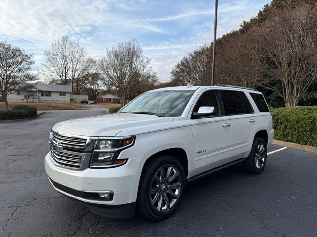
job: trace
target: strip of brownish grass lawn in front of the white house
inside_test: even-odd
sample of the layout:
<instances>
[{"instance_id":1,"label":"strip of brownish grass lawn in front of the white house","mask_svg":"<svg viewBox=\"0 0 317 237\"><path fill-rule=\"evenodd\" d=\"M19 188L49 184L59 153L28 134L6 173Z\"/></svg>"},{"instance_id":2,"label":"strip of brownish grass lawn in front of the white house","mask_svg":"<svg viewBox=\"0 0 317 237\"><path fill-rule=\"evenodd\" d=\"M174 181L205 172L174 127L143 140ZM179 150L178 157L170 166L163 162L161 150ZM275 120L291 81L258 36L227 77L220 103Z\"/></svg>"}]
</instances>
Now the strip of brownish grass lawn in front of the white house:
<instances>
[{"instance_id":1,"label":"strip of brownish grass lawn in front of the white house","mask_svg":"<svg viewBox=\"0 0 317 237\"><path fill-rule=\"evenodd\" d=\"M38 110L87 110L87 106L75 103L9 103L9 110L16 105L32 105ZM0 102L0 110L4 110L4 102Z\"/></svg>"}]
</instances>

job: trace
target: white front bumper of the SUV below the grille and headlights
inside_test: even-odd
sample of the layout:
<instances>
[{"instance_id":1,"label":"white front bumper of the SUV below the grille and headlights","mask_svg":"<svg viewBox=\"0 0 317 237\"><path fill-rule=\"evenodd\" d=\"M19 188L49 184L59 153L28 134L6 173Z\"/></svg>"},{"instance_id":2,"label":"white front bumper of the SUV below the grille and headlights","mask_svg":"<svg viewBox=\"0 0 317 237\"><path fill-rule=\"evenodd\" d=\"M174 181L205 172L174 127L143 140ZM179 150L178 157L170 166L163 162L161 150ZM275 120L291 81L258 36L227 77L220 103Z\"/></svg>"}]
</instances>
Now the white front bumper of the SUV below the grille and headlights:
<instances>
[{"instance_id":1,"label":"white front bumper of the SUV below the grille and headlights","mask_svg":"<svg viewBox=\"0 0 317 237\"><path fill-rule=\"evenodd\" d=\"M45 156L45 171L50 178L51 184L58 192L73 198L86 206L89 205L89 208L94 212L102 213L102 207L104 207L104 209L119 210L119 205L124 205L125 208L123 209L127 211L126 208L129 210L132 208L134 210L135 204L133 203L135 203L137 196L139 180L139 176L137 174L140 160L141 158L131 158L125 165L119 167L107 169L88 168L79 171L62 168L56 165L50 154L47 154ZM54 185L53 183L58 185ZM76 195L76 193L67 192L67 189L60 188L60 185L79 192L87 193L113 191L113 200L103 201L100 199L94 200L91 198L85 198L83 196ZM109 206L112 207L109 208ZM115 214L111 213L112 211L110 211L107 216L116 218L114 217ZM105 214L106 213L104 213L104 215Z\"/></svg>"}]
</instances>

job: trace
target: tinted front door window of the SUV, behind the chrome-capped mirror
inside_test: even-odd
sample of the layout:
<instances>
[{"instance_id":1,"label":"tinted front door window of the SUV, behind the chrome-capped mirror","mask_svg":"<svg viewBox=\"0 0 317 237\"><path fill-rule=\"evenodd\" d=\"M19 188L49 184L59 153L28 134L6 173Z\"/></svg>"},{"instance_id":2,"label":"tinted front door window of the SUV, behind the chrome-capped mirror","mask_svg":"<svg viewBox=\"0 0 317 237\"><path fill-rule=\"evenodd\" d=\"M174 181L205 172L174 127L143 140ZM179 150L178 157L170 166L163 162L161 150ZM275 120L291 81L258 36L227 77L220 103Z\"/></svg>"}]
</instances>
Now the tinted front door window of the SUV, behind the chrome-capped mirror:
<instances>
[{"instance_id":1,"label":"tinted front door window of the SUV, behind the chrome-capped mirror","mask_svg":"<svg viewBox=\"0 0 317 237\"><path fill-rule=\"evenodd\" d=\"M224 115L224 109L219 91L209 90L204 92L197 101L193 112L198 112L201 106L213 106L214 116Z\"/></svg>"}]
</instances>

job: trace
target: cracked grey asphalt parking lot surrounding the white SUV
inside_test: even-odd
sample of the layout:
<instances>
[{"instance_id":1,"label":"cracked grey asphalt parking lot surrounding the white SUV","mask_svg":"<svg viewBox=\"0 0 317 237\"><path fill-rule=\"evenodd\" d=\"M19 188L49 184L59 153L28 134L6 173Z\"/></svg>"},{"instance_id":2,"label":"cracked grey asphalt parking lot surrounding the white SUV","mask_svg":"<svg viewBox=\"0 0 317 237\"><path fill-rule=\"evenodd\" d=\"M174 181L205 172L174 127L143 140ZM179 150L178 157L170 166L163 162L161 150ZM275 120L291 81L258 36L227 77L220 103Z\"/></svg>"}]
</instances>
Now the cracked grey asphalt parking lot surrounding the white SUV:
<instances>
[{"instance_id":1,"label":"cracked grey asphalt parking lot surrounding the white SUV","mask_svg":"<svg viewBox=\"0 0 317 237\"><path fill-rule=\"evenodd\" d=\"M44 156L56 122L99 114L49 111L0 123L1 237L317 236L317 155L290 148L270 154L261 175L235 166L187 185L176 213L162 222L91 213L53 189Z\"/></svg>"}]
</instances>

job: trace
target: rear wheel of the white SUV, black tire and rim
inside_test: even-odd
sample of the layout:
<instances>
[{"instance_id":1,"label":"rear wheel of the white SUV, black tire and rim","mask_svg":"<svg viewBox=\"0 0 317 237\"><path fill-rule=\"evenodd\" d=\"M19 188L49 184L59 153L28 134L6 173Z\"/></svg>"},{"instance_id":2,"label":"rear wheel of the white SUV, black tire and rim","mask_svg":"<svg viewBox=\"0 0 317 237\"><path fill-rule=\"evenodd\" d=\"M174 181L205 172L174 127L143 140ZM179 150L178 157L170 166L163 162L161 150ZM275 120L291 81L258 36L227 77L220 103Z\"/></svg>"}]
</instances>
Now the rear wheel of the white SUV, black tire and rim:
<instances>
[{"instance_id":1,"label":"rear wheel of the white SUV, black tire and rim","mask_svg":"<svg viewBox=\"0 0 317 237\"><path fill-rule=\"evenodd\" d=\"M267 148L263 138L255 137L249 157L243 163L243 168L252 174L261 174L265 168Z\"/></svg>"}]
</instances>

